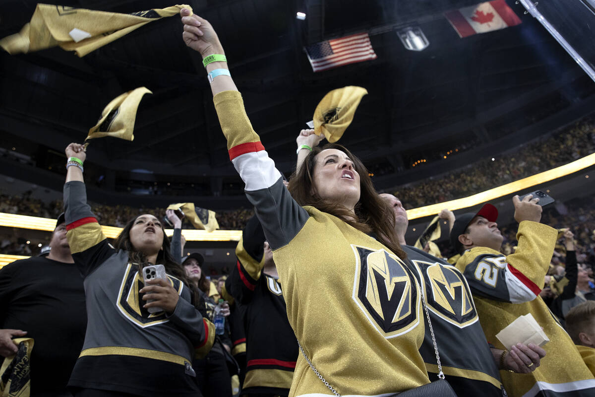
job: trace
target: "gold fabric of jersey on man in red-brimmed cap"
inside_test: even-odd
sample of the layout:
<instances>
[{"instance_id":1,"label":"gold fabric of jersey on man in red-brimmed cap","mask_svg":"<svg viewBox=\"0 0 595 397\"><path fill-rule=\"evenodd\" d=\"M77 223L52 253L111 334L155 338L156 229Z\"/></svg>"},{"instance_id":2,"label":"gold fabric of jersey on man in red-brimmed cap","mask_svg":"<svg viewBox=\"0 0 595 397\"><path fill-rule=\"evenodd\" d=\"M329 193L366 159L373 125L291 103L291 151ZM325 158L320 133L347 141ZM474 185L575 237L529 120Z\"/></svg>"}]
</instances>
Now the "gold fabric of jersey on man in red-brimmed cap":
<instances>
[{"instance_id":1,"label":"gold fabric of jersey on man in red-brimmed cap","mask_svg":"<svg viewBox=\"0 0 595 397\"><path fill-rule=\"evenodd\" d=\"M475 307L488 342L498 349L505 349L496 338L496 334L520 315L527 313L533 315L550 339L550 342L543 346L547 352L546 357L541 359L540 367L532 373L516 374L509 371L500 371L502 384L511 397L524 396L530 390L530 395L535 395L540 387L544 387L540 382L557 384L563 390L584 389L585 383L577 382L593 379L593 374L584 364L571 338L540 296L529 302L513 304L487 298L486 289L483 289L483 293L478 295L477 290L473 287L474 284L477 285L478 280L471 280L475 272L469 271L469 269L477 268L478 262L486 257L487 251L491 251L493 258L505 257L508 264L524 274L535 285L543 288L544 277L549 268L556 236L556 230L549 226L523 221L519 224L517 235L519 246L515 254L505 257L493 249L477 247L466 251L456 263L456 267L463 271L469 280L469 286L471 286L474 293ZM510 270L505 268L501 271ZM499 296L500 299L502 299L502 283L503 280L499 280L496 287L494 287L494 296ZM508 285L508 288L511 288L511 285ZM510 290L509 293L512 294ZM593 395L595 395L595 380L587 382L587 387L593 387ZM552 396L557 395L555 392L551 393L553 393ZM585 395L588 395L588 392Z\"/></svg>"}]
</instances>

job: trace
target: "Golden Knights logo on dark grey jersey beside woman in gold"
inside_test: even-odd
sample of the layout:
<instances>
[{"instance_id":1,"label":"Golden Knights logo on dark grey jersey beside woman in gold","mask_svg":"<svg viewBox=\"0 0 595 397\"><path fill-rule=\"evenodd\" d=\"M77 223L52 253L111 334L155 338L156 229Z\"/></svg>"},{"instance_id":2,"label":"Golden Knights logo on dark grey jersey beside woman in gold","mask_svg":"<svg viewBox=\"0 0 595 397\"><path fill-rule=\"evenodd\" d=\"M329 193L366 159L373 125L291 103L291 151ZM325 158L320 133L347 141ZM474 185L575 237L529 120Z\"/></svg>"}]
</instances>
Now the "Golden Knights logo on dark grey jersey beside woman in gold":
<instances>
[{"instance_id":1,"label":"Golden Knights logo on dark grey jersey beside woman in gold","mask_svg":"<svg viewBox=\"0 0 595 397\"><path fill-rule=\"evenodd\" d=\"M422 288L428 310L459 328L478 320L471 290L461 273L438 262L411 262L424 277Z\"/></svg>"}]
</instances>

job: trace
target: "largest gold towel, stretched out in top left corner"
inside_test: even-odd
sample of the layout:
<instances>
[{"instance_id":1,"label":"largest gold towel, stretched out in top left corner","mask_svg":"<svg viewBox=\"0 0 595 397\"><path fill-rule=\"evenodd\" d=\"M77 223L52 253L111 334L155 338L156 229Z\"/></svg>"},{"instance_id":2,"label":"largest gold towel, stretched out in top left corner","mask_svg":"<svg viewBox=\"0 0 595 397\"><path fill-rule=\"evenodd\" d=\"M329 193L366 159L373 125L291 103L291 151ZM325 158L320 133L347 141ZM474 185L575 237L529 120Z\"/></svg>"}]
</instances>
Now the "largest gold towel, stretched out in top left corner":
<instances>
[{"instance_id":1,"label":"largest gold towel, stretched out in top left corner","mask_svg":"<svg viewBox=\"0 0 595 397\"><path fill-rule=\"evenodd\" d=\"M11 55L60 46L84 57L149 22L179 14L182 8L192 11L189 5L173 5L120 14L37 4L31 21L19 33L0 40L0 46Z\"/></svg>"}]
</instances>

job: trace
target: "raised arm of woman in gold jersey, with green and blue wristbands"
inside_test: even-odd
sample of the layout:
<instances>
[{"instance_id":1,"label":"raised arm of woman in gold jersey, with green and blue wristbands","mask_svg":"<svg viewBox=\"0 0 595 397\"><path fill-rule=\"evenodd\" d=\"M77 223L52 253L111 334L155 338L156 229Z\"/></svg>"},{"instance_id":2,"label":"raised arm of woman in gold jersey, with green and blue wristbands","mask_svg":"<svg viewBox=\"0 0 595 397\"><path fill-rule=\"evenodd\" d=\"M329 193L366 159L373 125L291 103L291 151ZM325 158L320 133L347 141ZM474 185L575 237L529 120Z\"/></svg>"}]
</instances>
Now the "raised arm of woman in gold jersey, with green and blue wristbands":
<instances>
[{"instance_id":1,"label":"raised arm of woman in gold jersey, with green and blue wristbands","mask_svg":"<svg viewBox=\"0 0 595 397\"><path fill-rule=\"evenodd\" d=\"M207 58L210 55L224 54L223 46L208 21L198 15L188 15L189 11L185 9L180 14L184 23L184 42L200 52L203 61L211 60ZM223 69L225 73L217 69ZM281 173L252 129L242 96L231 76L226 75L227 62L208 63L206 71L213 72L209 81L221 129L227 139L230 160L246 184L246 196L255 207L271 248L280 248L295 237L309 215L290 196L283 185Z\"/></svg>"}]
</instances>

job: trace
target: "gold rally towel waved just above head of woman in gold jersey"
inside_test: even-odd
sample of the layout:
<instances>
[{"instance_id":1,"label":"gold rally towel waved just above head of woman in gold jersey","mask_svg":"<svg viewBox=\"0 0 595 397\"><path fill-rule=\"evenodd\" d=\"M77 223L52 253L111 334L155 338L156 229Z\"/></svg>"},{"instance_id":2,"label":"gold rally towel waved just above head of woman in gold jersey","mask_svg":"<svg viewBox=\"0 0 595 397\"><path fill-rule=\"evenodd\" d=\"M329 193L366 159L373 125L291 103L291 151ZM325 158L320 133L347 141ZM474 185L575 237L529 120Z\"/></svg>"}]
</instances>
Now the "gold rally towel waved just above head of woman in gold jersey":
<instances>
[{"instance_id":1,"label":"gold rally towel waved just above head of woman in gold jersey","mask_svg":"<svg viewBox=\"0 0 595 397\"><path fill-rule=\"evenodd\" d=\"M359 101L367 93L365 88L356 86L347 86L327 93L314 110L316 135L324 134L328 142L337 142L351 124Z\"/></svg>"}]
</instances>

